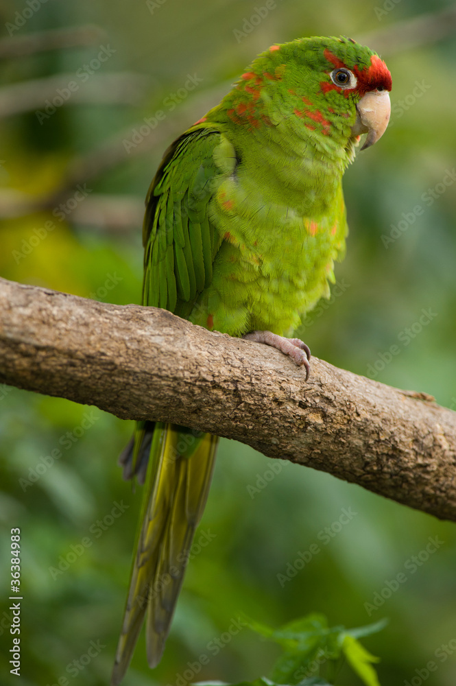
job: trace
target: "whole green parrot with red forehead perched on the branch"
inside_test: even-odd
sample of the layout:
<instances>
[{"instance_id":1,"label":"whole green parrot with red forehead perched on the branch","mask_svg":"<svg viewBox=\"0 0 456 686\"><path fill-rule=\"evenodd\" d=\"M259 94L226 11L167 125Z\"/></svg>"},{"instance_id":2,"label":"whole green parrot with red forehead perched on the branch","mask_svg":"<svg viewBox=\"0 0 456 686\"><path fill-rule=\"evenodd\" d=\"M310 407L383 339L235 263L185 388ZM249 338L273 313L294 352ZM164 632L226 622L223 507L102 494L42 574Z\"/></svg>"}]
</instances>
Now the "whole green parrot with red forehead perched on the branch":
<instances>
[{"instance_id":1,"label":"whole green parrot with red forehead perched on the branch","mask_svg":"<svg viewBox=\"0 0 456 686\"><path fill-rule=\"evenodd\" d=\"M329 295L347 235L341 179L389 120L391 75L351 38L301 38L259 55L219 105L165 152L143 226L143 305L278 348ZM178 342L176 342L178 344ZM121 456L143 507L112 672L121 683L146 617L161 659L211 484L217 436L142 421Z\"/></svg>"}]
</instances>

